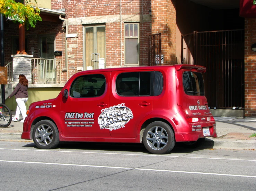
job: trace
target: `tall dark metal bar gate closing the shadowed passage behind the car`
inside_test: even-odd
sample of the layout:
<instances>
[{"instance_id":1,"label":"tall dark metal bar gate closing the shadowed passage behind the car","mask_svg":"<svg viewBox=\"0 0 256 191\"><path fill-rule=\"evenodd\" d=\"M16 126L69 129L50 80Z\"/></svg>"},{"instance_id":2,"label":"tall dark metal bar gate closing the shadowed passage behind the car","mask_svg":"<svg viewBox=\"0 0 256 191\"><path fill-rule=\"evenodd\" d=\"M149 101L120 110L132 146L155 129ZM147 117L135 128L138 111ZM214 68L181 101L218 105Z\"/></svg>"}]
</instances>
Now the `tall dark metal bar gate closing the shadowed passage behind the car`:
<instances>
[{"instance_id":1,"label":"tall dark metal bar gate closing the shadowed passage behind the car","mask_svg":"<svg viewBox=\"0 0 256 191\"><path fill-rule=\"evenodd\" d=\"M211 109L244 109L244 33L223 30L182 35L183 64L206 67L205 96Z\"/></svg>"}]
</instances>

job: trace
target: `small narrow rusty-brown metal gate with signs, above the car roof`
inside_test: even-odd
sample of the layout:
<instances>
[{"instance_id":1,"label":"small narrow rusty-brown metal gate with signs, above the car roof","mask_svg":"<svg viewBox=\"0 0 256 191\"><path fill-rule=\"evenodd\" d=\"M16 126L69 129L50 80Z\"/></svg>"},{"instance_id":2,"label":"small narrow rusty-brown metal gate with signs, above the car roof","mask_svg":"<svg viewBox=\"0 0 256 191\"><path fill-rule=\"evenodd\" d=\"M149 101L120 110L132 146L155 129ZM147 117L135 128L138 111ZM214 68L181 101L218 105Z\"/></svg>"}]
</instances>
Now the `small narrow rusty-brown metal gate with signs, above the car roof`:
<instances>
[{"instance_id":1,"label":"small narrow rusty-brown metal gate with signs, above the car roof","mask_svg":"<svg viewBox=\"0 0 256 191\"><path fill-rule=\"evenodd\" d=\"M148 34L148 66L161 66L161 33Z\"/></svg>"}]
</instances>

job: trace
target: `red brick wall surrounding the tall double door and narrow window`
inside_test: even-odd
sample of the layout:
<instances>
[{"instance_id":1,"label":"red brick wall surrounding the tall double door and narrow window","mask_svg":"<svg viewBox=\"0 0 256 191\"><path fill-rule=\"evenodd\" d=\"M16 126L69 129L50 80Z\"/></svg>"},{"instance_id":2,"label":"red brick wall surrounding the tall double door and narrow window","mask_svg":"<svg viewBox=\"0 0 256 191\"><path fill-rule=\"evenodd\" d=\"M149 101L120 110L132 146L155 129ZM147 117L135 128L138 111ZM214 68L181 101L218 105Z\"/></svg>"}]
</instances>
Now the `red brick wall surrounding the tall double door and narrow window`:
<instances>
[{"instance_id":1,"label":"red brick wall surrounding the tall double door and narrow window","mask_svg":"<svg viewBox=\"0 0 256 191\"><path fill-rule=\"evenodd\" d=\"M121 4L120 4L121 3ZM68 19L69 34L76 33L78 38L67 39L68 54L68 78L83 68L83 26L82 19L97 17L97 22L89 24L105 24L106 30L106 68L124 67L124 23L138 22L140 24L140 65L148 62L147 35L151 33L151 22L144 21L141 17L138 21L132 20L134 16L148 15L151 9L151 0L77 0L58 1L52 0L52 9L65 8ZM121 15L121 16L120 16ZM131 16L129 16L131 15ZM108 16L113 16L111 22L106 22ZM128 16L128 17L127 17ZM123 19L123 17L125 19ZM102 18L102 19L101 19ZM128 19L127 19L128 18ZM70 20L71 19L71 20ZM73 19L73 20L72 20ZM128 20L128 21L127 21ZM151 18L150 18L151 20ZM58 36L57 36L58 38ZM63 46L63 44L61 44ZM58 44L56 43L56 49ZM64 57L64 51L63 51ZM63 58L64 59L64 58Z\"/></svg>"}]
</instances>

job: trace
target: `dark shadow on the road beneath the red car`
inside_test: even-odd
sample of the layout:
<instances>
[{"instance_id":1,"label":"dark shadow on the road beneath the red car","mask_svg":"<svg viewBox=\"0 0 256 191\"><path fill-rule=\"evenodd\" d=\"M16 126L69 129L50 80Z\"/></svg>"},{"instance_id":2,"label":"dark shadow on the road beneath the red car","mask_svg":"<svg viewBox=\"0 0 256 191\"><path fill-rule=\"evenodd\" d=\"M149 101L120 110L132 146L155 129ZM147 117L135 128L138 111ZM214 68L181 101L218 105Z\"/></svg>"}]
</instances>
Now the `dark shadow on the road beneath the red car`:
<instances>
[{"instance_id":1,"label":"dark shadow on the road beneath the red car","mask_svg":"<svg viewBox=\"0 0 256 191\"><path fill-rule=\"evenodd\" d=\"M206 140L202 145L194 149L185 148L181 142L177 142L173 150L170 153L191 153L195 151L200 151L204 149L212 149L214 145L213 140ZM23 147L35 148L34 143L29 143ZM58 147L55 149L74 149L74 150L90 150L90 151L127 151L127 152L142 152L151 154L145 149L142 143L96 143L96 142L60 142ZM168 154L170 154L168 153Z\"/></svg>"}]
</instances>

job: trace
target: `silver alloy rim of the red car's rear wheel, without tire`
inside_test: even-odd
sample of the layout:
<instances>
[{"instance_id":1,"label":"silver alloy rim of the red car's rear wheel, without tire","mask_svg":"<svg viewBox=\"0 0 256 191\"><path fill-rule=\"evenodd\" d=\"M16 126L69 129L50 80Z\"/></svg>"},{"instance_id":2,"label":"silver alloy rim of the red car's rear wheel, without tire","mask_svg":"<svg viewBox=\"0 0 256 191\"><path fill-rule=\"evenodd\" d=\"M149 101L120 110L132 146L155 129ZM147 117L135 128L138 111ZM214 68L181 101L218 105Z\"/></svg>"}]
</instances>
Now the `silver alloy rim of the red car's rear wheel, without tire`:
<instances>
[{"instance_id":1,"label":"silver alloy rim of the red car's rear wheel, without tire","mask_svg":"<svg viewBox=\"0 0 256 191\"><path fill-rule=\"evenodd\" d=\"M153 150L161 150L166 147L168 142L168 134L162 127L155 126L147 132L147 143Z\"/></svg>"}]
</instances>

